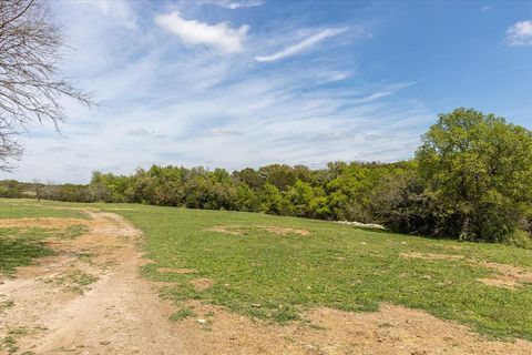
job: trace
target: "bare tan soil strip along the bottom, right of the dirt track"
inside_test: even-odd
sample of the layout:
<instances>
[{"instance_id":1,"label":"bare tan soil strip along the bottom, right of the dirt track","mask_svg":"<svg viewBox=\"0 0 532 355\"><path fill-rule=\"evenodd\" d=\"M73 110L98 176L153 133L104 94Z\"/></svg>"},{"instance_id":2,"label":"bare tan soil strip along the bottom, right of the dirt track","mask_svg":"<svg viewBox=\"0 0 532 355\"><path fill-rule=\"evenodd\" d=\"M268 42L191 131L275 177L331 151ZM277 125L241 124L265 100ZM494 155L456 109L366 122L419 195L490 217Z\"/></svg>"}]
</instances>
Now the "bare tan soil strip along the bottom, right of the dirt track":
<instances>
[{"instance_id":1,"label":"bare tan soil strip along the bottom, right of the dirt track","mask_svg":"<svg viewBox=\"0 0 532 355\"><path fill-rule=\"evenodd\" d=\"M489 341L426 312L382 305L379 312L311 310L308 323L253 321L223 307L190 302L194 317L176 323L191 354L531 354L526 341Z\"/></svg>"}]
</instances>

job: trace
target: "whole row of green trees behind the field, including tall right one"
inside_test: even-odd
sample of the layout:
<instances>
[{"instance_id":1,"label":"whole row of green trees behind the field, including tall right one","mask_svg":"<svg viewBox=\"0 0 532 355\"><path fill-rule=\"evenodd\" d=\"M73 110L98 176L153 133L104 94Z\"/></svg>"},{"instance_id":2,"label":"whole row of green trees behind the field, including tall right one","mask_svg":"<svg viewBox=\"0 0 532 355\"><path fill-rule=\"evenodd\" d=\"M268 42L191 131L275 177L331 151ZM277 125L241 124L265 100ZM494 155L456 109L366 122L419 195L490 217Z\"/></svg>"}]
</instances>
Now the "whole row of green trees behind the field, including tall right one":
<instances>
[{"instance_id":1,"label":"whole row of green trees behind the field, including tall right one","mask_svg":"<svg viewBox=\"0 0 532 355\"><path fill-rule=\"evenodd\" d=\"M0 196L129 202L381 223L424 235L532 245L532 132L474 110L442 114L416 158L224 169L94 172L88 185L0 182Z\"/></svg>"}]
</instances>

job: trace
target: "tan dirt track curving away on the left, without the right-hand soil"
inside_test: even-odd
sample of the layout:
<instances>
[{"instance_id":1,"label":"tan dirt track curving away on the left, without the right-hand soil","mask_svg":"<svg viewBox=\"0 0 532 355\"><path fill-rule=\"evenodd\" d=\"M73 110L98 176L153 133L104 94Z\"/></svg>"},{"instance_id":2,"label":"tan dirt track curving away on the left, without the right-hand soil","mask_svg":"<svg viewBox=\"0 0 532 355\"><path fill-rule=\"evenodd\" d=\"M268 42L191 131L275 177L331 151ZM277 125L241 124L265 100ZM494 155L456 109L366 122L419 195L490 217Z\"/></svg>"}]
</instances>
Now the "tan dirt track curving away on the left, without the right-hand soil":
<instances>
[{"instance_id":1,"label":"tan dirt track curving away on the left, without the right-hand soil","mask_svg":"<svg viewBox=\"0 0 532 355\"><path fill-rule=\"evenodd\" d=\"M140 232L115 214L89 213L88 234L57 242L58 256L0 285L13 303L0 313L0 335L11 334L20 354L182 354L172 306L139 277Z\"/></svg>"}]
</instances>

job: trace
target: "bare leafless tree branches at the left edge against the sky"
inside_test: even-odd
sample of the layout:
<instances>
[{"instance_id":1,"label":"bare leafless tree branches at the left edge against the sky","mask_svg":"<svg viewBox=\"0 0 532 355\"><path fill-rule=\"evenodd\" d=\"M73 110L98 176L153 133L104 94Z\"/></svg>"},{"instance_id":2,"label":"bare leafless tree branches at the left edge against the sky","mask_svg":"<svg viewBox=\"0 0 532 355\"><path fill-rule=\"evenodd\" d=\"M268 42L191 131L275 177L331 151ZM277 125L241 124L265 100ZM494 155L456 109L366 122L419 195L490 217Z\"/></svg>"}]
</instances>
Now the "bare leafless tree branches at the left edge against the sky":
<instances>
[{"instance_id":1,"label":"bare leafless tree branches at the left edge against the sky","mask_svg":"<svg viewBox=\"0 0 532 355\"><path fill-rule=\"evenodd\" d=\"M17 136L30 123L49 121L59 130L62 98L91 105L59 73L62 44L47 0L0 0L0 171L13 169L22 154Z\"/></svg>"}]
</instances>

